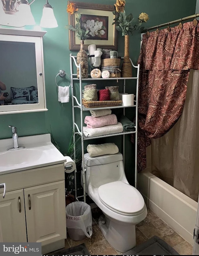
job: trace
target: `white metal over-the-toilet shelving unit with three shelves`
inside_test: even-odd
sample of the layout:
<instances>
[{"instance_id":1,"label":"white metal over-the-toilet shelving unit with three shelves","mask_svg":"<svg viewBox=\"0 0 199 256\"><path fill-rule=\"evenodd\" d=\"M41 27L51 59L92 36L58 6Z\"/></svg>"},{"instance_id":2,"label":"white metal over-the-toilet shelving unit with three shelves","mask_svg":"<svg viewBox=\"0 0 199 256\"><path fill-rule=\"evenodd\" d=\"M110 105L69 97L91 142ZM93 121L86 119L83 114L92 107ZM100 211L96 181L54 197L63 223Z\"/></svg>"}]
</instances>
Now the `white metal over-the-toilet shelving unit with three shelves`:
<instances>
[{"instance_id":1,"label":"white metal over-the-toilet shelving unit with three shelves","mask_svg":"<svg viewBox=\"0 0 199 256\"><path fill-rule=\"evenodd\" d=\"M122 58L123 59L123 58ZM79 68L79 73L80 73L80 79L77 78L77 74L73 72L73 62L77 68ZM131 61L132 63L132 61ZM83 173L83 190L84 194L82 196L77 197L77 184L76 184L76 172L74 175L75 179L75 197L78 200L80 197L84 197L84 202L86 202L86 184L85 184L85 165L84 165L84 140L91 140L91 139L98 139L98 138L103 138L103 137L110 137L110 136L117 136L117 135L123 135L123 162L125 160L125 138L124 136L126 134L133 134L135 133L135 188L137 187L137 114L138 114L138 108L137 108L137 101L135 102L135 105L133 106L113 106L113 107L99 107L99 108L92 108L92 110L100 110L100 109L116 109L116 108L123 108L123 114L125 115L125 108L126 107L135 107L136 108L136 123L135 123L135 131L123 131L121 133L114 133L114 134L108 134L108 135L102 135L102 136L97 136L97 137L86 137L83 134L83 111L90 111L91 108L87 108L82 105L82 81L103 81L103 80L123 80L123 92L125 92L125 87L126 87L126 80L137 80L137 86L136 86L136 100L138 99L138 80L139 80L139 70L140 70L140 65L135 66L132 63L132 66L137 69L137 77L127 77L127 78L81 78L81 64L78 66L76 62L76 56L73 56L70 54L70 71L71 71L71 91L72 91L72 123L73 123L73 129L76 130L74 136L73 136L73 141L75 141L75 135L78 134L81 136L81 152L82 152L82 170L84 170ZM79 81L79 91L80 91L80 102L74 95L74 87L73 87L73 81ZM76 105L75 105L76 103ZM75 122L75 108L79 108L81 111L81 127L79 127L76 122ZM74 158L75 158L75 145L74 145Z\"/></svg>"}]
</instances>

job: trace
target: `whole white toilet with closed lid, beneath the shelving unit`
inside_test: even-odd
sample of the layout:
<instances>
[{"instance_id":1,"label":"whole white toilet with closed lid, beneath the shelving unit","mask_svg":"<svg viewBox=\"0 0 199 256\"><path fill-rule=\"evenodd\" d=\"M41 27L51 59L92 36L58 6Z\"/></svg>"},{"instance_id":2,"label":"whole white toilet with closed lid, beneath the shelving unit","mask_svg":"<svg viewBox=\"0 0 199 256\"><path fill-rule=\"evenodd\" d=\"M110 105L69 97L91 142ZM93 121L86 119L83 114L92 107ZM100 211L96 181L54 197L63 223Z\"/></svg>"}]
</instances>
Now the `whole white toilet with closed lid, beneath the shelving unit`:
<instances>
[{"instance_id":1,"label":"whole white toilet with closed lid, beneath the shelving unit","mask_svg":"<svg viewBox=\"0 0 199 256\"><path fill-rule=\"evenodd\" d=\"M84 157L86 193L104 213L99 227L114 249L127 252L136 246L135 225L146 218L144 199L129 185L121 153Z\"/></svg>"}]
</instances>

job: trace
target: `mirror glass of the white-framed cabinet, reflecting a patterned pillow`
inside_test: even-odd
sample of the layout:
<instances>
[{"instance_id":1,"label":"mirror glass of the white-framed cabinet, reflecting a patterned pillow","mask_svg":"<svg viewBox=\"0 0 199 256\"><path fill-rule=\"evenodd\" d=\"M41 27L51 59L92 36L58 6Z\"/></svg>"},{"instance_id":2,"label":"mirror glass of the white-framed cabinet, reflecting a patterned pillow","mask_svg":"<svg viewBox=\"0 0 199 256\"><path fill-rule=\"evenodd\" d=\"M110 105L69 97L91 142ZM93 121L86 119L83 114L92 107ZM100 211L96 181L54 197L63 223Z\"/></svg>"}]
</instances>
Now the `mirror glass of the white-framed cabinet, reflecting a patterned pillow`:
<instances>
[{"instance_id":1,"label":"mirror glass of the white-framed cabinet, reflecting a patterned pillow","mask_svg":"<svg viewBox=\"0 0 199 256\"><path fill-rule=\"evenodd\" d=\"M35 43L0 41L0 106L38 101Z\"/></svg>"}]
</instances>

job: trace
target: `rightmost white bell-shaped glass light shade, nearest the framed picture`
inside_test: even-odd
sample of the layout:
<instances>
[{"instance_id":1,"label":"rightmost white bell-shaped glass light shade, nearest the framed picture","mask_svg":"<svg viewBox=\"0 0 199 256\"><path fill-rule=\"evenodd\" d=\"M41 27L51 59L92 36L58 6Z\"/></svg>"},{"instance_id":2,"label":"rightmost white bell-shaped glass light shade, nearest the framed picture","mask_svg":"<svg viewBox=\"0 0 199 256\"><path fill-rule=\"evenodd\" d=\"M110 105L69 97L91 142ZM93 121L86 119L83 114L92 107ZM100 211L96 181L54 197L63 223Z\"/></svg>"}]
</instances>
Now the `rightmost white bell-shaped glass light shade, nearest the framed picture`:
<instances>
[{"instance_id":1,"label":"rightmost white bell-shaped glass light shade, nearest the framed picture","mask_svg":"<svg viewBox=\"0 0 199 256\"><path fill-rule=\"evenodd\" d=\"M58 27L57 20L54 16L53 8L44 7L41 17L40 27L53 28Z\"/></svg>"}]
</instances>

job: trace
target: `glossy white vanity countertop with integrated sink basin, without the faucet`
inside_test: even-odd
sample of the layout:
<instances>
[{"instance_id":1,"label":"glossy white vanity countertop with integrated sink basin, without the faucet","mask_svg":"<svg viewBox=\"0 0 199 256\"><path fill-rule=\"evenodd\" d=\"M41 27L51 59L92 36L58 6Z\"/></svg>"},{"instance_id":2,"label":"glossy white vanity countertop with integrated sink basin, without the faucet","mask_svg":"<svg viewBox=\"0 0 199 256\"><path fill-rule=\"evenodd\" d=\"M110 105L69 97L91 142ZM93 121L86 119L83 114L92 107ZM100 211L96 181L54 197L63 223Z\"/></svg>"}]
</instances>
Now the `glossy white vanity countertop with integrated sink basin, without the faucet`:
<instances>
[{"instance_id":1,"label":"glossy white vanity countertop with integrated sink basin, without the faucet","mask_svg":"<svg viewBox=\"0 0 199 256\"><path fill-rule=\"evenodd\" d=\"M0 175L66 162L52 144L50 134L19 137L18 143L25 148L7 151L12 147L12 138L0 140Z\"/></svg>"}]
</instances>

